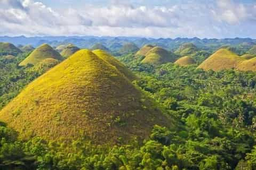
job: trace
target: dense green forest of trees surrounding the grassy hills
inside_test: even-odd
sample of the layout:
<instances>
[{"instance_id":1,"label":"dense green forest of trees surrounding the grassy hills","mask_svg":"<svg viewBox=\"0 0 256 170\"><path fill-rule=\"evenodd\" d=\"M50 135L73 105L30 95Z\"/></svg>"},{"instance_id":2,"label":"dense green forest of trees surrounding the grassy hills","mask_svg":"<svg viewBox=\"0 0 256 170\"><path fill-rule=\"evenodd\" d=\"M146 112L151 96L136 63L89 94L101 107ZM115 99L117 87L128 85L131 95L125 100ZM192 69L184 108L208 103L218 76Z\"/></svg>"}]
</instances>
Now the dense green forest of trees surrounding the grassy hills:
<instances>
[{"instance_id":1,"label":"dense green forest of trees surrounding the grassy hills","mask_svg":"<svg viewBox=\"0 0 256 170\"><path fill-rule=\"evenodd\" d=\"M1 109L45 72L19 66L29 54L1 56ZM0 169L255 169L256 74L198 69L208 56L197 53L197 64L189 66L142 64L144 57L133 53L117 57L137 75L135 86L174 117L178 128L158 124L147 140L113 147L21 140L1 122Z\"/></svg>"}]
</instances>

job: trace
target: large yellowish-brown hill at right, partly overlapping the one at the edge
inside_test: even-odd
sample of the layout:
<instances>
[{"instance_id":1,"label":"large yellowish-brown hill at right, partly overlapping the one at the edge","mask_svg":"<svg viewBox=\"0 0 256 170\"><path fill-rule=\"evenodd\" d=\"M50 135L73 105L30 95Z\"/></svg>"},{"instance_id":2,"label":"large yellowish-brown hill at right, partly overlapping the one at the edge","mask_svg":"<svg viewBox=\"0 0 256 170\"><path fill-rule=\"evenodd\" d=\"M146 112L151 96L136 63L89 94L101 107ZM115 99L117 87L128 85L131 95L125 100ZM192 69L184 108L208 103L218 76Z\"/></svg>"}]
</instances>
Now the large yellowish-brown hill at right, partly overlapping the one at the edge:
<instances>
[{"instance_id":1,"label":"large yellowish-brown hill at right, partly overlapping the one at the edge","mask_svg":"<svg viewBox=\"0 0 256 170\"><path fill-rule=\"evenodd\" d=\"M230 52L230 50L222 48L207 58L201 65L198 66L198 68L214 71L233 69L244 60L244 58Z\"/></svg>"}]
</instances>

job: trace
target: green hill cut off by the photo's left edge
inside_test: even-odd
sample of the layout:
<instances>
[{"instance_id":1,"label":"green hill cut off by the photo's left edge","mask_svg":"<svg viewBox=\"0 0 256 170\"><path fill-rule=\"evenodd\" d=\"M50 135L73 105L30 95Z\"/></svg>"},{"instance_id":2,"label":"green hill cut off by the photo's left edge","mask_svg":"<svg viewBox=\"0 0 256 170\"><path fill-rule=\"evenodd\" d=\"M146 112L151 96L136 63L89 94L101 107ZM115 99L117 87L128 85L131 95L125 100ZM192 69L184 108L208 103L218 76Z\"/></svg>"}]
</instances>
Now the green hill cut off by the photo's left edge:
<instances>
[{"instance_id":1,"label":"green hill cut off by the photo's left edge","mask_svg":"<svg viewBox=\"0 0 256 170\"><path fill-rule=\"evenodd\" d=\"M22 53L22 51L15 47L11 43L0 43L0 55L14 55L17 56L18 54Z\"/></svg>"}]
</instances>

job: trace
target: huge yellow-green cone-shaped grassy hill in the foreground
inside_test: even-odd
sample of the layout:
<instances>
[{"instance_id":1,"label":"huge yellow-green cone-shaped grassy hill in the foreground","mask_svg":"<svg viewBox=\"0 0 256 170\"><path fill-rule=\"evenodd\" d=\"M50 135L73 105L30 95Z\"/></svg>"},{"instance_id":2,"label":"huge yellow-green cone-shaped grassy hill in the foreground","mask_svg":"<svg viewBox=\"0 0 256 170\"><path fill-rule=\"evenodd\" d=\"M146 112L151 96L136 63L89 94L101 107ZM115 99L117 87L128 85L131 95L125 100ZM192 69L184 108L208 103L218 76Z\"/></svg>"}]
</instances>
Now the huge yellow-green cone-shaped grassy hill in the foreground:
<instances>
[{"instance_id":1,"label":"huge yellow-green cone-shaped grassy hill in the foreground","mask_svg":"<svg viewBox=\"0 0 256 170\"><path fill-rule=\"evenodd\" d=\"M30 83L2 109L0 120L22 139L110 145L145 139L155 124L172 125L116 67L89 50L79 50Z\"/></svg>"}]
</instances>

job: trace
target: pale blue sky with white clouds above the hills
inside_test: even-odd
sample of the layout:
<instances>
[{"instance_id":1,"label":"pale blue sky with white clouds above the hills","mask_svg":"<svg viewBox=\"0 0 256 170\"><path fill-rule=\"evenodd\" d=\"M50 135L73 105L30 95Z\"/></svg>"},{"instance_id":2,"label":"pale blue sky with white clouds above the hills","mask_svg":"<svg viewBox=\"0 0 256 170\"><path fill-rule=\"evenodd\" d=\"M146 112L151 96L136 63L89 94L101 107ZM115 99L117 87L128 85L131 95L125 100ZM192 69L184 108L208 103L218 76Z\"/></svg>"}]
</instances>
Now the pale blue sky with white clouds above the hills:
<instances>
[{"instance_id":1,"label":"pale blue sky with white clouds above the hills","mask_svg":"<svg viewBox=\"0 0 256 170\"><path fill-rule=\"evenodd\" d=\"M0 0L0 36L256 38L256 0Z\"/></svg>"}]
</instances>

